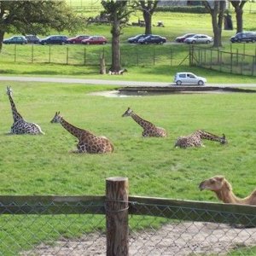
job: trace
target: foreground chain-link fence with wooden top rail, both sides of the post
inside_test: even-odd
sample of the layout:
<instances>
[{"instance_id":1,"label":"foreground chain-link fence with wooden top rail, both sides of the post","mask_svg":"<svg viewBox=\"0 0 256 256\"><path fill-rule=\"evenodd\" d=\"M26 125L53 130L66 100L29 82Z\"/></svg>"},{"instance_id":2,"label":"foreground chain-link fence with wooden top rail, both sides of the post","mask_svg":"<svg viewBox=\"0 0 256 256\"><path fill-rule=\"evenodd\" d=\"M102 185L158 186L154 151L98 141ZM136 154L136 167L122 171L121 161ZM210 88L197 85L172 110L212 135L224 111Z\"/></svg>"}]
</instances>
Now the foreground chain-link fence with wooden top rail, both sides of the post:
<instances>
[{"instance_id":1,"label":"foreground chain-link fence with wooden top rail, both sides of the post","mask_svg":"<svg viewBox=\"0 0 256 256\"><path fill-rule=\"evenodd\" d=\"M106 255L105 206L1 196L0 255ZM255 208L129 197L129 255L256 255Z\"/></svg>"}]
</instances>

